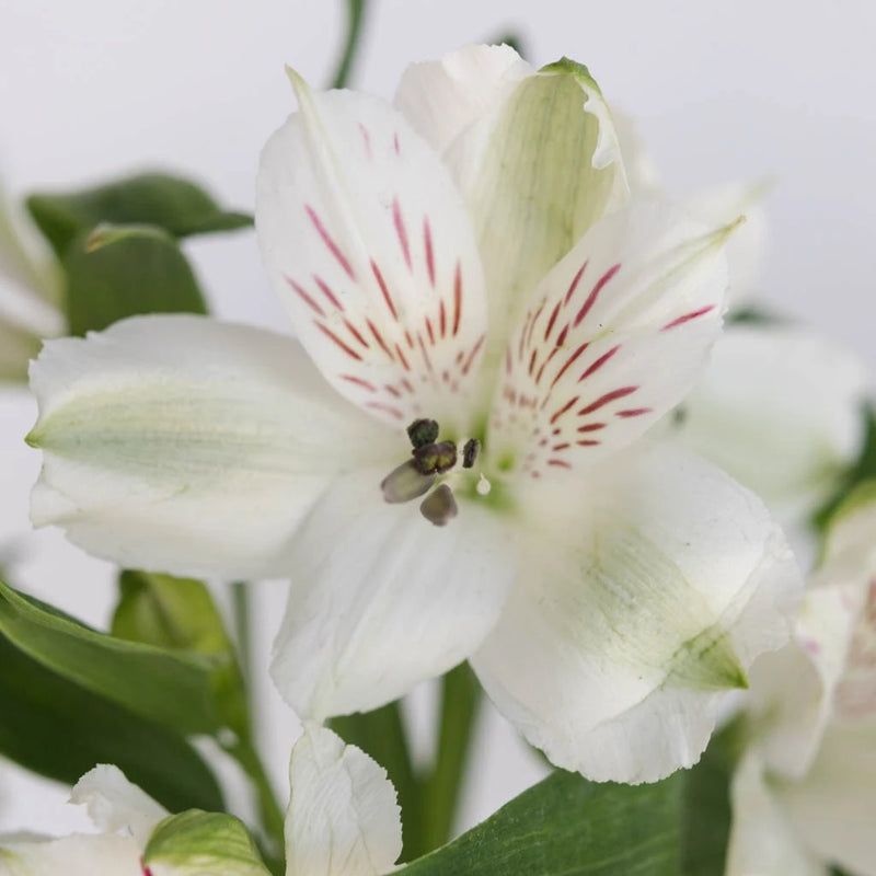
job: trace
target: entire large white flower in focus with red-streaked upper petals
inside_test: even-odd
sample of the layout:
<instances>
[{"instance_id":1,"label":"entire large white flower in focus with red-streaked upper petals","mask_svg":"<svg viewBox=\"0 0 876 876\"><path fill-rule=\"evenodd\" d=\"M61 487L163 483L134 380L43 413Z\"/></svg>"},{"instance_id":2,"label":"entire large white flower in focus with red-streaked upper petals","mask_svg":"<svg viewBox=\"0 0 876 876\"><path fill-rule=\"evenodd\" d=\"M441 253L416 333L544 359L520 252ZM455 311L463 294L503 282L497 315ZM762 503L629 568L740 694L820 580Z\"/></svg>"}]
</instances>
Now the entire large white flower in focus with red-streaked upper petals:
<instances>
[{"instance_id":1,"label":"entire large white flower in focus with red-streaked upper petals","mask_svg":"<svg viewBox=\"0 0 876 876\"><path fill-rule=\"evenodd\" d=\"M151 316L49 344L34 521L291 577L273 676L303 718L468 658L558 765L693 763L798 583L753 495L643 438L719 332L731 227L630 203L569 61L462 49L397 108L291 78L256 226L298 341Z\"/></svg>"}]
</instances>

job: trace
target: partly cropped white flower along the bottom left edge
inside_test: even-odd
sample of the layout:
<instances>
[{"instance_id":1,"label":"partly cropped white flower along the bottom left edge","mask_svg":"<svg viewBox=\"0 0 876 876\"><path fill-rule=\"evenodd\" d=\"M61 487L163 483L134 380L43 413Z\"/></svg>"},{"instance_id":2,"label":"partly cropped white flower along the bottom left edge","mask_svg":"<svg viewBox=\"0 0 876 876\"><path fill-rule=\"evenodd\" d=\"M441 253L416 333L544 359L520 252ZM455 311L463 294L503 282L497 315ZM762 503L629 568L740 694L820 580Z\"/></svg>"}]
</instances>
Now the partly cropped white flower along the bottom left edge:
<instances>
[{"instance_id":1,"label":"partly cropped white flower along the bottom left edge","mask_svg":"<svg viewBox=\"0 0 876 876\"><path fill-rule=\"evenodd\" d=\"M402 851L385 771L331 730L308 726L289 763L286 876L380 876ZM269 876L244 826L191 809L172 816L116 766L77 783L100 834L0 835L2 876Z\"/></svg>"}]
</instances>

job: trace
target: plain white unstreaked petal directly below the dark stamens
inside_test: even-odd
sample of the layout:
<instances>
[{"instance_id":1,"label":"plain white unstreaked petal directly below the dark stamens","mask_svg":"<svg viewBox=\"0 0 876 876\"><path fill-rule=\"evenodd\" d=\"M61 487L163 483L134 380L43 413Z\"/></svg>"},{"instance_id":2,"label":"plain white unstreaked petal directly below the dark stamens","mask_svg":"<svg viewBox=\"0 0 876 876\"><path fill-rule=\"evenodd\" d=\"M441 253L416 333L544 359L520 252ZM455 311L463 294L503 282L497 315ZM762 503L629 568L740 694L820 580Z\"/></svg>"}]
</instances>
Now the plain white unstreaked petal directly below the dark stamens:
<instances>
[{"instance_id":1,"label":"plain white unstreaked petal directly below the dark stamens","mask_svg":"<svg viewBox=\"0 0 876 876\"><path fill-rule=\"evenodd\" d=\"M379 470L339 481L293 543L272 675L300 717L369 711L464 660L498 618L512 533L477 504L448 526L381 498Z\"/></svg>"}]
</instances>

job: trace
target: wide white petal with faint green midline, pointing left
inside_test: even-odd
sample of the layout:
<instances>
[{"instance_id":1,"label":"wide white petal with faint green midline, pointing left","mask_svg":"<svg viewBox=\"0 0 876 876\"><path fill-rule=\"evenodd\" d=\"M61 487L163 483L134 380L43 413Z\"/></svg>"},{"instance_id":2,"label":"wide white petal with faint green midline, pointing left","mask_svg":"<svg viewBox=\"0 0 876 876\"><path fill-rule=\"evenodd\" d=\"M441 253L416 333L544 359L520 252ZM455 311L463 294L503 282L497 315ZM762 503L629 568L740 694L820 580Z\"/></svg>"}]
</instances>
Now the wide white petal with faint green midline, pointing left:
<instances>
[{"instance_id":1,"label":"wide white petal with faint green midline, pointing left","mask_svg":"<svg viewBox=\"0 0 876 876\"><path fill-rule=\"evenodd\" d=\"M176 574L288 574L299 520L338 473L406 441L336 396L298 343L198 316L50 342L33 367L36 525Z\"/></svg>"}]
</instances>

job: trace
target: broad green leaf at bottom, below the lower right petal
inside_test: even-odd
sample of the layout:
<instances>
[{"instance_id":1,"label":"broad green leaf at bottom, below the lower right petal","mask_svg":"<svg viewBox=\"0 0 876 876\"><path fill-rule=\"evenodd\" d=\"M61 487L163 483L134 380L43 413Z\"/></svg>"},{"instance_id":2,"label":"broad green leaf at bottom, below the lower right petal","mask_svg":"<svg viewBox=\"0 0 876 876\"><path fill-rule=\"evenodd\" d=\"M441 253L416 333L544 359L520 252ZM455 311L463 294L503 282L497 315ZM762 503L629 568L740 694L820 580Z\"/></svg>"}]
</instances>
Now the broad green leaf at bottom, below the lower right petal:
<instances>
[{"instance_id":1,"label":"broad green leaf at bottom, below the lower right petal","mask_svg":"<svg viewBox=\"0 0 876 876\"><path fill-rule=\"evenodd\" d=\"M678 876L683 776L595 784L556 772L405 876Z\"/></svg>"}]
</instances>

